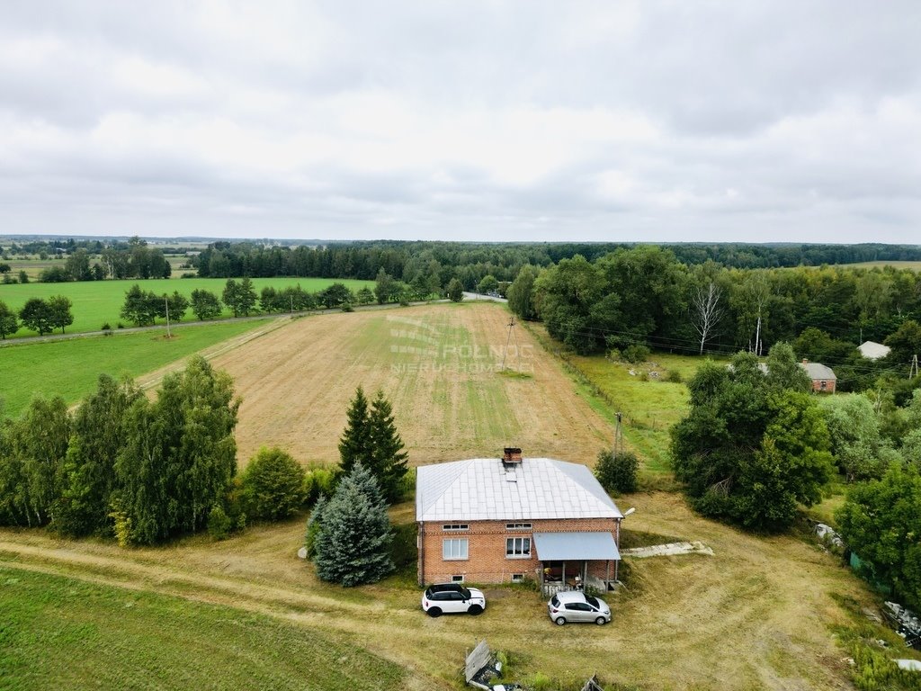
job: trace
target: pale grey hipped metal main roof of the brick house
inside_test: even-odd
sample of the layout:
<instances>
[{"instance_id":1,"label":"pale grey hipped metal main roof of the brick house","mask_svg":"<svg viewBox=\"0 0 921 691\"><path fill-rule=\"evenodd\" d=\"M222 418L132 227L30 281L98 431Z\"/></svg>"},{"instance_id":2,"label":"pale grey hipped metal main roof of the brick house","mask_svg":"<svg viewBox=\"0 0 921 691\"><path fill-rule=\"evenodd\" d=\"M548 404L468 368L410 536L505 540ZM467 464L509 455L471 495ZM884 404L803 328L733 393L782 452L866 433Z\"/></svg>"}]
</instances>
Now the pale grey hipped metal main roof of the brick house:
<instances>
[{"instance_id":1,"label":"pale grey hipped metal main roof of the brick house","mask_svg":"<svg viewBox=\"0 0 921 691\"><path fill-rule=\"evenodd\" d=\"M416 521L624 518L589 468L526 458L509 469L497 458L416 468Z\"/></svg>"}]
</instances>

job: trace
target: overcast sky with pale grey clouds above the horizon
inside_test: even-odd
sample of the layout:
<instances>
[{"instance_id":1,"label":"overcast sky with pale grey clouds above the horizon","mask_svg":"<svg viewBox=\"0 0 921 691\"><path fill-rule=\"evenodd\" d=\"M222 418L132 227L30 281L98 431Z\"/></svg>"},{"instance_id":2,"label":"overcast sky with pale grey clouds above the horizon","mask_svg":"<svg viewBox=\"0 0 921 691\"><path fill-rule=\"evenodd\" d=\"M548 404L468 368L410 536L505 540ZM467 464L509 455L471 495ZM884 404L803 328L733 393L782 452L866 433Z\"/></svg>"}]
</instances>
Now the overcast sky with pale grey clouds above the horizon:
<instances>
[{"instance_id":1,"label":"overcast sky with pale grey clouds above the horizon","mask_svg":"<svg viewBox=\"0 0 921 691\"><path fill-rule=\"evenodd\" d=\"M921 243L921 2L0 4L0 234Z\"/></svg>"}]
</instances>

